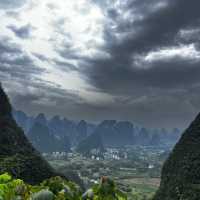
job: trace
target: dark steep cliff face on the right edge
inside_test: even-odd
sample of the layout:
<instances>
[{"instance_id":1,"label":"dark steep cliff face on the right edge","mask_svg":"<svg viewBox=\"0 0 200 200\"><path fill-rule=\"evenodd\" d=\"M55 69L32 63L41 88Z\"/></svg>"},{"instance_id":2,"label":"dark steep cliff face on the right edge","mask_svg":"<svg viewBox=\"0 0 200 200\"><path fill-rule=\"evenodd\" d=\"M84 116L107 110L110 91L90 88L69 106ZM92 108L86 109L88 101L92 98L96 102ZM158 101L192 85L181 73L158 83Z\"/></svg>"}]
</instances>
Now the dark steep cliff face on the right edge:
<instances>
[{"instance_id":1,"label":"dark steep cliff face on the right edge","mask_svg":"<svg viewBox=\"0 0 200 200\"><path fill-rule=\"evenodd\" d=\"M161 178L154 200L200 199L200 114L165 162Z\"/></svg>"}]
</instances>

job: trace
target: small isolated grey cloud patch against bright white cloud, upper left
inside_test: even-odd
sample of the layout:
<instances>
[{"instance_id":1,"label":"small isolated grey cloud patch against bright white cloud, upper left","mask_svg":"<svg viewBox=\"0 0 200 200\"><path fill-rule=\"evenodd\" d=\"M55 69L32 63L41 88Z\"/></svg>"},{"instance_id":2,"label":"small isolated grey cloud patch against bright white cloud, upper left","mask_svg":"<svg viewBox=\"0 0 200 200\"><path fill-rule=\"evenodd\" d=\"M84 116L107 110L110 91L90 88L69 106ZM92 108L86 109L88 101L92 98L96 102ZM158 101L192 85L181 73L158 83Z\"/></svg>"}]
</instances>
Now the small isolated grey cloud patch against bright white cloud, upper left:
<instances>
[{"instance_id":1,"label":"small isolated grey cloud patch against bright white cloud, upper left","mask_svg":"<svg viewBox=\"0 0 200 200\"><path fill-rule=\"evenodd\" d=\"M16 27L14 25L9 25L8 28L19 38L27 39L31 37L31 32L33 27L30 24L25 26Z\"/></svg>"}]
</instances>

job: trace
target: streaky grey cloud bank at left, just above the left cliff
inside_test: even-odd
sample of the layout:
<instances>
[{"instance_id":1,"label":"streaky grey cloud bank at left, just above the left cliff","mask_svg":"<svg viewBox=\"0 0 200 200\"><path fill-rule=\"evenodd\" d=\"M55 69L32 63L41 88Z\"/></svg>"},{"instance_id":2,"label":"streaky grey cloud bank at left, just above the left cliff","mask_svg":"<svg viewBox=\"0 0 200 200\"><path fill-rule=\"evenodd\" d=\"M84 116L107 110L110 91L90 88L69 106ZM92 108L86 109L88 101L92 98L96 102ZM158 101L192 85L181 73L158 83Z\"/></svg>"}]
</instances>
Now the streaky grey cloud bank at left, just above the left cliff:
<instances>
[{"instance_id":1,"label":"streaky grey cloud bank at left, just above the left cliff","mask_svg":"<svg viewBox=\"0 0 200 200\"><path fill-rule=\"evenodd\" d=\"M49 61L40 54L27 55L23 49L8 38L0 40L0 82L3 83L16 109L29 114L44 112L49 116L59 114L75 116L86 103L77 91L64 90L56 83L44 81L43 73L48 73L35 63L34 56ZM72 67L66 62L57 65Z\"/></svg>"}]
</instances>

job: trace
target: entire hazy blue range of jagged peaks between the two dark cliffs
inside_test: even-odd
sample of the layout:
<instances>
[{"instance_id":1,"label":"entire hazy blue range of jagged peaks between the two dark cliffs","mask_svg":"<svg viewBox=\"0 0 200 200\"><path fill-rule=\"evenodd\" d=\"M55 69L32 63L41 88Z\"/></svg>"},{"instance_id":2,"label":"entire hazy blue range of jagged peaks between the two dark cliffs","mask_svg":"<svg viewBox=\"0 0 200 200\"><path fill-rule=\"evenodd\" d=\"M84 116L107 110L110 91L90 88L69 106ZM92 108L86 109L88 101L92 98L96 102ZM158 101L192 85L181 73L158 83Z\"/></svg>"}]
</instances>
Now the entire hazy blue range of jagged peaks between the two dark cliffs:
<instances>
[{"instance_id":1,"label":"entire hazy blue range of jagged peaks between the two dark cliffs","mask_svg":"<svg viewBox=\"0 0 200 200\"><path fill-rule=\"evenodd\" d=\"M41 152L70 151L76 147L80 152L93 148L124 147L127 145L173 146L181 136L174 128L147 129L129 121L104 120L92 124L81 120L75 122L60 116L50 120L44 114L28 116L22 111L13 111L13 116L25 131L32 144Z\"/></svg>"}]
</instances>

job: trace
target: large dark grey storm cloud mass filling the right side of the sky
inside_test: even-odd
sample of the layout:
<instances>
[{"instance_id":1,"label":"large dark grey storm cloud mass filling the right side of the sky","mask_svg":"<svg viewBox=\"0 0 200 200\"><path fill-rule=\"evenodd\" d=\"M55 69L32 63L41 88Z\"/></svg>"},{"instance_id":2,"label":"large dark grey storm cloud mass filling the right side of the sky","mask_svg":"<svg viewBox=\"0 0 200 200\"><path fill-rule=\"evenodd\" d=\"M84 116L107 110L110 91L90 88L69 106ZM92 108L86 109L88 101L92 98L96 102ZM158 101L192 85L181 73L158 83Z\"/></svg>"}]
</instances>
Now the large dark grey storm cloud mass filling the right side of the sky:
<instances>
[{"instance_id":1,"label":"large dark grey storm cloud mass filling the right side of the sky","mask_svg":"<svg viewBox=\"0 0 200 200\"><path fill-rule=\"evenodd\" d=\"M110 57L83 60L81 72L87 80L98 90L118 96L112 105L118 117L148 125L187 124L200 110L194 103L200 96L200 59L174 55L147 62L144 58L150 52L181 45L193 44L198 52L200 2L129 0L120 8L109 8L108 1L96 3L108 17L104 51ZM124 99L132 101L123 106ZM111 115L117 116L113 110Z\"/></svg>"}]
</instances>

